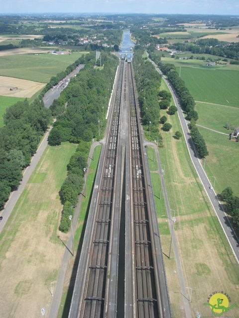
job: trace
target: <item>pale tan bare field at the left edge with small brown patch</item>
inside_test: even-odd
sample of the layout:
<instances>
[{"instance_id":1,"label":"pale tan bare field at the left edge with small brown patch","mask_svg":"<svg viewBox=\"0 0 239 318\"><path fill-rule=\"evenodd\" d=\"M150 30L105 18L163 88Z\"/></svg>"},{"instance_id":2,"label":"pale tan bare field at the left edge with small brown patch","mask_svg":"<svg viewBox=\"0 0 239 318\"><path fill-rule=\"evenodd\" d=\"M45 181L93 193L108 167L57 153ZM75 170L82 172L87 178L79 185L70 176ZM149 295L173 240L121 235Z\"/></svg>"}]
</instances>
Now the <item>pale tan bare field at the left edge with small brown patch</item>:
<instances>
[{"instance_id":1,"label":"pale tan bare field at the left edge with small brown patch","mask_svg":"<svg viewBox=\"0 0 239 318\"><path fill-rule=\"evenodd\" d=\"M10 77L0 76L0 95L9 97L30 98L38 90L43 88L45 83L26 79L15 79ZM17 87L16 90L10 90L12 87Z\"/></svg>"}]
</instances>

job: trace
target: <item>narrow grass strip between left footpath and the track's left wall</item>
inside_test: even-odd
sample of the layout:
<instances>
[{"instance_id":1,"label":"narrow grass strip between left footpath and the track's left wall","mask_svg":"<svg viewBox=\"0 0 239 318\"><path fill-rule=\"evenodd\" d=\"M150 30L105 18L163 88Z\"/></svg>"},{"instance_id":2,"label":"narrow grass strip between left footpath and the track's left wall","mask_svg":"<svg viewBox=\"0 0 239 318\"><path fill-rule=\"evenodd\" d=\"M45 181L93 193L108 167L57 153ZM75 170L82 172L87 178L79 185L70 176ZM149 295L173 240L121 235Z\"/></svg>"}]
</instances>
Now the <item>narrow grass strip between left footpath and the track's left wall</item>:
<instances>
[{"instance_id":1,"label":"narrow grass strip between left footpath and the track's left wall","mask_svg":"<svg viewBox=\"0 0 239 318\"><path fill-rule=\"evenodd\" d=\"M86 180L87 197L85 198L83 196L83 200L82 200L82 204L81 204L81 211L80 211L79 218L78 218L78 225L77 225L77 229L76 229L75 236L74 236L74 250L75 251L78 250L78 252L81 250L82 243L83 243L84 227L86 226L86 222L87 222L87 218L86 218L87 211L88 211L89 205L91 203L90 198L91 198L91 193L92 193L93 187L94 187L95 176L96 176L96 172L97 172L98 162L100 159L101 149L102 149L101 146L97 146L95 148L95 160L91 160L89 173L88 173L88 177ZM63 288L63 295L62 295L61 304L60 304L57 318L68 317L68 314L69 314L72 293L74 290L74 284L72 284L72 283L70 284L72 271L73 271L73 267L74 267L74 261L75 261L75 259L70 258L70 260L68 262L67 273L66 273L65 283L64 283L64 288ZM73 276L75 277L77 268L74 268L74 271L75 271L75 273L73 273Z\"/></svg>"}]
</instances>

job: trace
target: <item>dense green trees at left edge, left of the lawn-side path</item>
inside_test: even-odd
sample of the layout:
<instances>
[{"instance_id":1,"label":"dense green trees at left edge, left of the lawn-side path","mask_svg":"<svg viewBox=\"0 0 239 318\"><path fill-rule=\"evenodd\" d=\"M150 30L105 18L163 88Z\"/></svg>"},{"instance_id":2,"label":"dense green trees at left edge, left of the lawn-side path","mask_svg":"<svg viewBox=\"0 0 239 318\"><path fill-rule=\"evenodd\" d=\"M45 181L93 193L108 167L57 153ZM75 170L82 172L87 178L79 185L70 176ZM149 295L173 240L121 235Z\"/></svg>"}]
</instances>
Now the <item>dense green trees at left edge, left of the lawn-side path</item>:
<instances>
[{"instance_id":1,"label":"dense green trees at left edge, left of the lawn-side path","mask_svg":"<svg viewBox=\"0 0 239 318\"><path fill-rule=\"evenodd\" d=\"M9 192L22 178L21 170L30 163L38 140L51 121L51 113L39 99L29 104L19 101L6 109L0 128L0 209Z\"/></svg>"}]
</instances>

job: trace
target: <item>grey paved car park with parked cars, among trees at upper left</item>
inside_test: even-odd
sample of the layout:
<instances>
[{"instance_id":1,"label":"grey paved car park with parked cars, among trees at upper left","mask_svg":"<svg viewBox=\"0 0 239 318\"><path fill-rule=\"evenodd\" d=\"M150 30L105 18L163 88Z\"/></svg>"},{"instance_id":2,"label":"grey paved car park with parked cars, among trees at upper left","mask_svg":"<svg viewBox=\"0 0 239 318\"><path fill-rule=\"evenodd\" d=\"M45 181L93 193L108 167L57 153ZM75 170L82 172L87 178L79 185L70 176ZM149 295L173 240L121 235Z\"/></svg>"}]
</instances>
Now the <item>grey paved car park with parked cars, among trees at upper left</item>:
<instances>
[{"instance_id":1,"label":"grey paved car park with parked cars, among trees at upper left","mask_svg":"<svg viewBox=\"0 0 239 318\"><path fill-rule=\"evenodd\" d=\"M76 76L81 69L84 68L84 64L80 64L74 71L62 79L56 86L52 87L43 97L43 102L46 108L49 108L54 99L60 96L61 91L68 85L70 78Z\"/></svg>"}]
</instances>

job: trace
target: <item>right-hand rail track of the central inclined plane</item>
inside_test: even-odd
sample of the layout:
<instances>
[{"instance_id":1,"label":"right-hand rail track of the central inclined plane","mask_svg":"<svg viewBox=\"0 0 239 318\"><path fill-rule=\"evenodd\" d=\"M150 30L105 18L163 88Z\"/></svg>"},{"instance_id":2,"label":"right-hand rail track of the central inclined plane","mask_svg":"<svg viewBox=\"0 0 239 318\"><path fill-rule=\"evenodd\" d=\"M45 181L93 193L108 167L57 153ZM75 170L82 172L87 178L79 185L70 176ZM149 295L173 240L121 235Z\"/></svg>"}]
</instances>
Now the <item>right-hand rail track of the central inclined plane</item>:
<instances>
[{"instance_id":1,"label":"right-hand rail track of the central inclined plane","mask_svg":"<svg viewBox=\"0 0 239 318\"><path fill-rule=\"evenodd\" d=\"M135 151L132 158L132 164L134 165L133 177L136 180L134 180L133 187L134 192L137 193L134 195L135 245L138 246L136 247L136 251L140 251L139 255L136 255L136 273L138 277L136 280L138 292L137 317L171 318L171 307L150 173L148 162L146 162L145 149L141 148L142 137L140 117L131 64L130 72L132 78L132 92L129 95L132 95L132 104L134 104L132 118L135 116L135 123L137 124L137 131L133 128L135 131L135 138L132 137L132 149ZM134 127L135 123L133 120L131 127ZM145 230L146 228L147 230ZM155 236L155 233L158 235ZM145 257L145 259L143 259L143 257ZM140 293L142 296L140 296ZM152 310L153 307L157 307L157 310Z\"/></svg>"}]
</instances>

